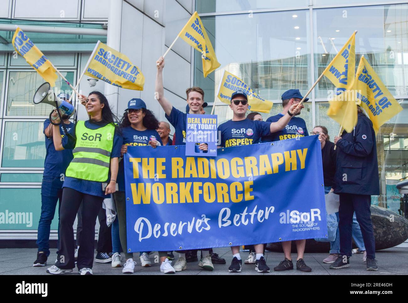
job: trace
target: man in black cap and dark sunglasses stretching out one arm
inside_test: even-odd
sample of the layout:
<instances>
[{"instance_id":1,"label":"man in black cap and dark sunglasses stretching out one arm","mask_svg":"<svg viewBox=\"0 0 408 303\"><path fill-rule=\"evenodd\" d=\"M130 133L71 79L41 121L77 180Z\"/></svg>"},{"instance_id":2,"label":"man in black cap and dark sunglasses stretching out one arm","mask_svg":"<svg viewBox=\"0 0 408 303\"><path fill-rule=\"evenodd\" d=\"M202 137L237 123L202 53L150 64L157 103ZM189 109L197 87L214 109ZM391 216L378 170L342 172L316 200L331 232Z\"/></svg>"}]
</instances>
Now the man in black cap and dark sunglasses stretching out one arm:
<instances>
[{"instance_id":1,"label":"man in black cap and dark sunglasses stretching out one arm","mask_svg":"<svg viewBox=\"0 0 408 303\"><path fill-rule=\"evenodd\" d=\"M218 126L218 136L220 147L231 147L237 145L251 145L259 143L262 136L269 135L285 127L292 116L300 112L300 107L292 105L286 109L287 113L276 122L270 123L245 118L248 109L248 97L244 91L235 91L231 95L230 108L233 111L233 118ZM257 272L269 272L264 258L264 245L254 245L256 252L255 270ZM239 255L239 246L232 246L233 259L229 272L241 272L242 259Z\"/></svg>"}]
</instances>

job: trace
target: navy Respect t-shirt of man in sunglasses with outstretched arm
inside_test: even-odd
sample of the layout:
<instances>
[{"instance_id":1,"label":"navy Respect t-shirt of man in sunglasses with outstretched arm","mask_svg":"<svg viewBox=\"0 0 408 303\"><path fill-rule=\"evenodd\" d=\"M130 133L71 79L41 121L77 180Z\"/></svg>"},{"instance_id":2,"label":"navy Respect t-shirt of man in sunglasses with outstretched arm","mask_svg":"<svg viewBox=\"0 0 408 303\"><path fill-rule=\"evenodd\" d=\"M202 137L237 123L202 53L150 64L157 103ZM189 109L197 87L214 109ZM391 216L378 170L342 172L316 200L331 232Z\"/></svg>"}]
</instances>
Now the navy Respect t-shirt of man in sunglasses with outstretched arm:
<instances>
[{"instance_id":1,"label":"navy Respect t-shirt of man in sunglasses with outstretched arm","mask_svg":"<svg viewBox=\"0 0 408 303\"><path fill-rule=\"evenodd\" d=\"M249 119L229 120L218 126L218 134L221 135L222 147L256 144L262 136L271 134L271 123Z\"/></svg>"}]
</instances>

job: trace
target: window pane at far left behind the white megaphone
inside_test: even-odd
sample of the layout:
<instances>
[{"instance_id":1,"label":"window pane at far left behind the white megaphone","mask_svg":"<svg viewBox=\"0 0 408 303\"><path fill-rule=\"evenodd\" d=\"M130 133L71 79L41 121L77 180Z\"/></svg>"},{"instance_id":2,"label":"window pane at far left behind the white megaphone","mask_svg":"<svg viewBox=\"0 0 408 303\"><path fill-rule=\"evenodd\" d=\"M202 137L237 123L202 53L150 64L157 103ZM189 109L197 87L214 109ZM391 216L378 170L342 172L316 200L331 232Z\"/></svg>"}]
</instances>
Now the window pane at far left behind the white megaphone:
<instances>
[{"instance_id":1,"label":"window pane at far left behind the white megaphone","mask_svg":"<svg viewBox=\"0 0 408 303\"><path fill-rule=\"evenodd\" d=\"M74 72L62 71L62 75L73 83ZM36 71L10 71L7 94L7 116L49 116L53 106L45 103L34 105L35 91L44 83L44 79ZM58 76L55 81L58 91L71 95L69 85Z\"/></svg>"}]
</instances>

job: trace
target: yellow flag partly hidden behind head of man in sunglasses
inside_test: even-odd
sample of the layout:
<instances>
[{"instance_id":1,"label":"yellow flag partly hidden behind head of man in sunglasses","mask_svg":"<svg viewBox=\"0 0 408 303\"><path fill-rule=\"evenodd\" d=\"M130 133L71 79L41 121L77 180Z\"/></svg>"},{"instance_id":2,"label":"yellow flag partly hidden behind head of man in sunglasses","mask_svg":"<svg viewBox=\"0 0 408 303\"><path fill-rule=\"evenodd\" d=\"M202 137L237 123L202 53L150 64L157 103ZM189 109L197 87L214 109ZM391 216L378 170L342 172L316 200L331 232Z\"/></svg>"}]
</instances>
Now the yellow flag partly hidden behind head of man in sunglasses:
<instances>
[{"instance_id":1,"label":"yellow flag partly hidden behind head of man in sunglasses","mask_svg":"<svg viewBox=\"0 0 408 303\"><path fill-rule=\"evenodd\" d=\"M273 103L258 96L251 87L237 76L224 71L218 91L218 98L226 103L231 103L231 95L234 91L243 91L248 96L248 109L251 111L259 111L261 113L269 113Z\"/></svg>"}]
</instances>

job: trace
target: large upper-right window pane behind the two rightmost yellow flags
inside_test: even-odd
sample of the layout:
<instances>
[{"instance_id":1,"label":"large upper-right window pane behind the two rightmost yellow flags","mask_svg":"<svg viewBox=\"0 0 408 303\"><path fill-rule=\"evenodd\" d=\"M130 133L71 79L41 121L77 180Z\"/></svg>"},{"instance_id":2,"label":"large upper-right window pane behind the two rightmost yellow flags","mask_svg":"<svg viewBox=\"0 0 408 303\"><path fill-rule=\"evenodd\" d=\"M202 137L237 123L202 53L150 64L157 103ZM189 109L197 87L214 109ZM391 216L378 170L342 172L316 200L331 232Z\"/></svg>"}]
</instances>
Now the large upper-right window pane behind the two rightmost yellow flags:
<instances>
[{"instance_id":1,"label":"large upper-right window pane behind the two rightmost yellow flags","mask_svg":"<svg viewBox=\"0 0 408 303\"><path fill-rule=\"evenodd\" d=\"M315 78L357 30L356 69L364 55L392 94L408 94L408 4L315 9L313 14ZM316 98L327 98L328 89L334 86L323 77Z\"/></svg>"}]
</instances>

